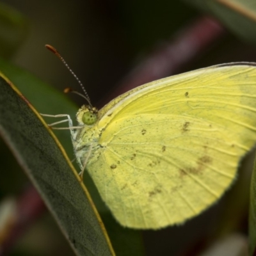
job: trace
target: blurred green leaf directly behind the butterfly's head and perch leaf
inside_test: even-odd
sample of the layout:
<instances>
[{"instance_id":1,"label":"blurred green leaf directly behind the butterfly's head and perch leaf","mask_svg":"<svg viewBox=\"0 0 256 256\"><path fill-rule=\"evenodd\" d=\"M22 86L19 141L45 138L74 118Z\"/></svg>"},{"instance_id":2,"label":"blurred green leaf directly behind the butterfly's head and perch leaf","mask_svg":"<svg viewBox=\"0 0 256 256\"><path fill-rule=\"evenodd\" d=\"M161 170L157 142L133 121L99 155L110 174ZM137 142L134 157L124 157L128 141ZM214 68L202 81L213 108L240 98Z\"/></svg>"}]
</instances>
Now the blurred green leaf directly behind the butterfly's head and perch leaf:
<instances>
[{"instance_id":1,"label":"blurred green leaf directly behind the butterfly's head and perch leaf","mask_svg":"<svg viewBox=\"0 0 256 256\"><path fill-rule=\"evenodd\" d=\"M1 60L1 58L0 70L2 70L4 74L12 80L22 94L29 99L29 102L31 102L31 104L35 106L40 113L52 115L68 114L74 120L74 116L78 108L68 100L67 95L57 92L52 88L52 86L42 82L29 72ZM47 119L47 122L48 121L55 122L56 119L52 120L52 118L50 118ZM75 123L76 122L74 122L74 124ZM65 124L63 124L63 126L65 126ZM67 151L70 159L73 159L74 154L70 139L70 132L67 130L54 130L54 133L58 136L58 140L60 140L61 145L63 145ZM140 231L123 228L116 222L116 220L113 220L113 216L111 216L108 208L104 202L102 202L88 173L84 173L84 183L86 188L89 189L93 202L95 202L95 205L102 216L104 225L108 230L111 243L113 244L117 255L143 255L143 243Z\"/></svg>"}]
</instances>

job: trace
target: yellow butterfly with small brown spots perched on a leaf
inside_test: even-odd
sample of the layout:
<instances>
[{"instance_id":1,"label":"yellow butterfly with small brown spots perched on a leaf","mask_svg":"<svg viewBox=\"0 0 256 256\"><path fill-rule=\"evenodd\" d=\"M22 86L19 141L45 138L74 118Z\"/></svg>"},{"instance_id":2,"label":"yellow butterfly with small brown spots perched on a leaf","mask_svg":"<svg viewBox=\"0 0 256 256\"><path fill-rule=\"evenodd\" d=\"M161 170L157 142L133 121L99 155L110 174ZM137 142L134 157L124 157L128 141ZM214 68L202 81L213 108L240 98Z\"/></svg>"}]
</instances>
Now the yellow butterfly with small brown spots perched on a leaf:
<instances>
[{"instance_id":1,"label":"yellow butterfly with small brown spots perched on a leaf","mask_svg":"<svg viewBox=\"0 0 256 256\"><path fill-rule=\"evenodd\" d=\"M99 111L89 103L77 127L68 116L77 162L121 225L183 223L230 187L256 141L255 65L160 79Z\"/></svg>"}]
</instances>

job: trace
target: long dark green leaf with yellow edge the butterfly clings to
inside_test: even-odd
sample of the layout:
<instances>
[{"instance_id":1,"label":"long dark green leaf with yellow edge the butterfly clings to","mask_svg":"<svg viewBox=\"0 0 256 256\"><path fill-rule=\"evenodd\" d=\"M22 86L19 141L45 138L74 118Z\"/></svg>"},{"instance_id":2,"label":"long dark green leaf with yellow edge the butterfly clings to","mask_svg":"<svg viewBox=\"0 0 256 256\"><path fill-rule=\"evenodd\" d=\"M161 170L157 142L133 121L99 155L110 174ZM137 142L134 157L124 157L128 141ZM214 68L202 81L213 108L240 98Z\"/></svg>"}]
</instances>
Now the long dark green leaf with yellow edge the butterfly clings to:
<instances>
[{"instance_id":1,"label":"long dark green leaf with yellow edge the butterfly clings to","mask_svg":"<svg viewBox=\"0 0 256 256\"><path fill-rule=\"evenodd\" d=\"M49 132L30 102L0 77L0 134L40 191L74 252L113 255L90 195Z\"/></svg>"}]
</instances>

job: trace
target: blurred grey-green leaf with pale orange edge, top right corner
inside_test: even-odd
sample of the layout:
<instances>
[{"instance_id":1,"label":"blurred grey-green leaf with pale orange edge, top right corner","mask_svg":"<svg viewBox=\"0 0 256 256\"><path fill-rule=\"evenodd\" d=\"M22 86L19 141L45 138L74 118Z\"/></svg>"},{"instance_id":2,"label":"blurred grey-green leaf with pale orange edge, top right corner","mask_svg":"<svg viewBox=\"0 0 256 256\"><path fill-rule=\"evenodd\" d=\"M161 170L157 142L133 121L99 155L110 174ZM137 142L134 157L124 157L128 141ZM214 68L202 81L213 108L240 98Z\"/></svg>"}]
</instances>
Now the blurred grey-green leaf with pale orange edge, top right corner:
<instances>
[{"instance_id":1,"label":"blurred grey-green leaf with pale orange edge, top right corner","mask_svg":"<svg viewBox=\"0 0 256 256\"><path fill-rule=\"evenodd\" d=\"M218 18L244 40L256 44L256 1L252 0L184 0Z\"/></svg>"}]
</instances>

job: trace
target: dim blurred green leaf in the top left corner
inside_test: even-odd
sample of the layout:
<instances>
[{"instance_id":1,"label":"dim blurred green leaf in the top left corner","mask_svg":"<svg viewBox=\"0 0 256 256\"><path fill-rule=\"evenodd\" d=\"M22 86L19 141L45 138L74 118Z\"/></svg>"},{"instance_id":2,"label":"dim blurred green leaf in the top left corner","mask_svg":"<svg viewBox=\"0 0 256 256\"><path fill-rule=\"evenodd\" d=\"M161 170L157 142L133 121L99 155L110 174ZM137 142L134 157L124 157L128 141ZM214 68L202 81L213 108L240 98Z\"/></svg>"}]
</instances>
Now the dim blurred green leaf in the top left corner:
<instances>
[{"instance_id":1,"label":"dim blurred green leaf in the top left corner","mask_svg":"<svg viewBox=\"0 0 256 256\"><path fill-rule=\"evenodd\" d=\"M0 56L10 58L28 35L28 20L12 7L0 3Z\"/></svg>"}]
</instances>

